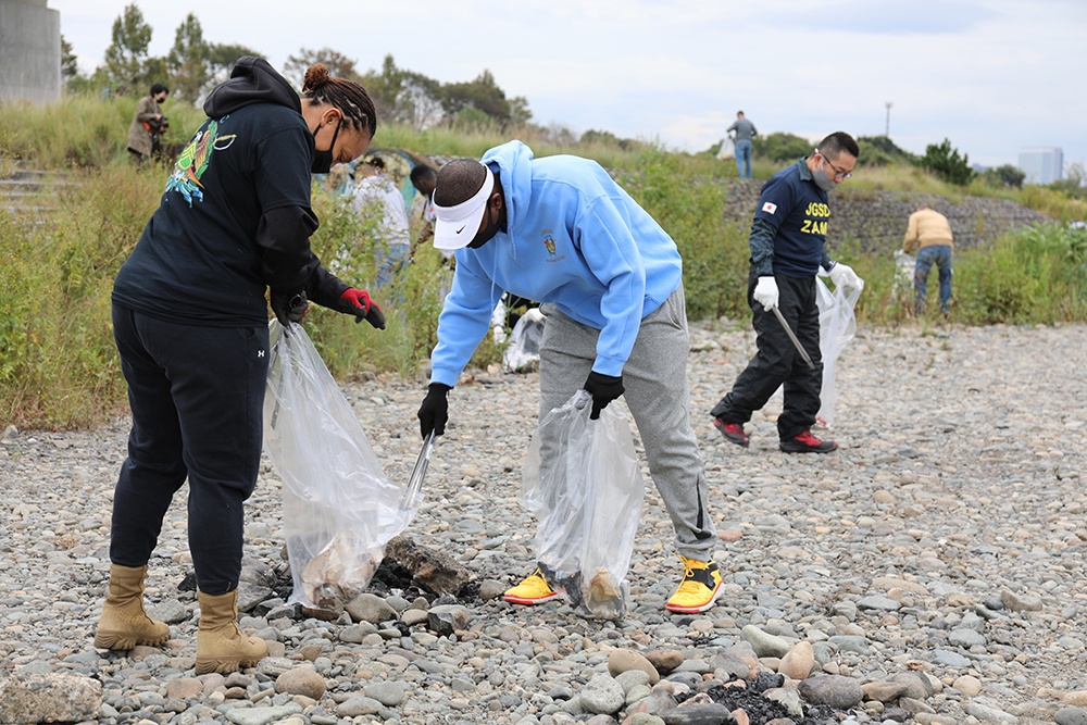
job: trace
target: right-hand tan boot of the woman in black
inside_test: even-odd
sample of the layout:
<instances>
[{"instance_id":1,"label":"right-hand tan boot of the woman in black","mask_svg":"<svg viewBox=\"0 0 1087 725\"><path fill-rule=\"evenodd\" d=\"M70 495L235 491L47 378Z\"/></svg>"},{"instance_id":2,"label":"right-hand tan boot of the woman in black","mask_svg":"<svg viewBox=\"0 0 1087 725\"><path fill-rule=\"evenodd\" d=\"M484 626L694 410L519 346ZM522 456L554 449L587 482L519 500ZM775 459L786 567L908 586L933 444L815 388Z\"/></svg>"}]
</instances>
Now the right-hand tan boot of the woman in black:
<instances>
[{"instance_id":1,"label":"right-hand tan boot of the woman in black","mask_svg":"<svg viewBox=\"0 0 1087 725\"><path fill-rule=\"evenodd\" d=\"M197 629L197 674L236 672L251 667L268 654L268 645L247 637L238 628L238 590L211 596L200 591L200 627Z\"/></svg>"}]
</instances>

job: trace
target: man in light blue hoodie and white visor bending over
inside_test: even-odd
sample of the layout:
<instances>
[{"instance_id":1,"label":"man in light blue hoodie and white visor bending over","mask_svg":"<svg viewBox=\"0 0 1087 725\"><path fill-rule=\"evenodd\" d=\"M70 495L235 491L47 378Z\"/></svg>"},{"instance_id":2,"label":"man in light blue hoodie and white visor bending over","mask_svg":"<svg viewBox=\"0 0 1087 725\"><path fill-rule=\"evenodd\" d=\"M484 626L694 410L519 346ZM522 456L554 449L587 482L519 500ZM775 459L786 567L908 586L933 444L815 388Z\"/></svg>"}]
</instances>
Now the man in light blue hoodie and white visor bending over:
<instances>
[{"instance_id":1,"label":"man in light blue hoodie and white visor bending over","mask_svg":"<svg viewBox=\"0 0 1087 725\"><path fill-rule=\"evenodd\" d=\"M510 141L438 173L434 246L455 250L438 317L433 373L418 410L424 437L445 432L448 392L487 334L503 291L542 304L540 417L579 388L591 418L620 396L676 532L684 577L667 601L703 612L721 593L705 474L690 425L687 314L675 242L596 162L533 159ZM579 380L585 380L580 384ZM554 598L539 567L505 592L516 604Z\"/></svg>"}]
</instances>

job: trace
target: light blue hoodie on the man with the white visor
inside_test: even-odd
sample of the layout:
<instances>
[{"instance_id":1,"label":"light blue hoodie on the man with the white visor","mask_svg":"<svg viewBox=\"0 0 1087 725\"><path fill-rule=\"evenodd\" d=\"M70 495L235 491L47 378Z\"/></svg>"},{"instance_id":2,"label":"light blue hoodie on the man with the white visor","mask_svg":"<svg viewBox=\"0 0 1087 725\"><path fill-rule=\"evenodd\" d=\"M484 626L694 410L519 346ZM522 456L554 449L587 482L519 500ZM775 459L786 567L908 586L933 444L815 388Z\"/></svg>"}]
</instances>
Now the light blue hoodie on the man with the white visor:
<instances>
[{"instance_id":1,"label":"light blue hoodie on the man with the white visor","mask_svg":"<svg viewBox=\"0 0 1087 725\"><path fill-rule=\"evenodd\" d=\"M503 290L551 302L599 329L592 370L621 375L642 317L679 287L675 242L595 161L533 160L521 141L482 161L500 174L507 230L479 249L458 250L430 382L457 384Z\"/></svg>"}]
</instances>

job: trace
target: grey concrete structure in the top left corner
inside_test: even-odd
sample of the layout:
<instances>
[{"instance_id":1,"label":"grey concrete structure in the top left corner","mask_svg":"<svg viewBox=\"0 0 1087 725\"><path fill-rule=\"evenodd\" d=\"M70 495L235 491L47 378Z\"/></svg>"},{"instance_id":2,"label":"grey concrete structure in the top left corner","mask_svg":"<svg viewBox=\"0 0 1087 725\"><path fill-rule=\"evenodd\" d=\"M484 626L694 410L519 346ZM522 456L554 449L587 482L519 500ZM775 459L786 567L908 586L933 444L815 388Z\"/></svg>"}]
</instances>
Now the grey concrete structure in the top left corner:
<instances>
[{"instance_id":1,"label":"grey concrete structure in the top left corner","mask_svg":"<svg viewBox=\"0 0 1087 725\"><path fill-rule=\"evenodd\" d=\"M0 0L0 103L61 97L61 14L47 0Z\"/></svg>"}]
</instances>

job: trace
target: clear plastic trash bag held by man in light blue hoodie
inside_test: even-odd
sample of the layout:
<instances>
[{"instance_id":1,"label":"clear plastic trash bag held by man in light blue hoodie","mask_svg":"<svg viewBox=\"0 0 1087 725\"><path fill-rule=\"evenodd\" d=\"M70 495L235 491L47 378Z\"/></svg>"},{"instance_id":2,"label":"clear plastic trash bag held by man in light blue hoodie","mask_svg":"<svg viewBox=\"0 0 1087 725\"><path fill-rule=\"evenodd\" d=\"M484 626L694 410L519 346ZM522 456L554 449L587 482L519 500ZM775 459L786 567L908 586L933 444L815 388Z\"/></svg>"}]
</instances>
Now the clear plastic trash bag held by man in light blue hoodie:
<instances>
[{"instance_id":1,"label":"clear plastic trash bag held by man in light blue hoodie","mask_svg":"<svg viewBox=\"0 0 1087 725\"><path fill-rule=\"evenodd\" d=\"M626 572L645 484L621 405L590 421L591 402L578 390L540 422L521 502L539 521L537 561L548 584L579 615L617 620L629 599Z\"/></svg>"}]
</instances>

